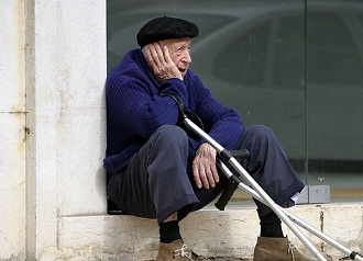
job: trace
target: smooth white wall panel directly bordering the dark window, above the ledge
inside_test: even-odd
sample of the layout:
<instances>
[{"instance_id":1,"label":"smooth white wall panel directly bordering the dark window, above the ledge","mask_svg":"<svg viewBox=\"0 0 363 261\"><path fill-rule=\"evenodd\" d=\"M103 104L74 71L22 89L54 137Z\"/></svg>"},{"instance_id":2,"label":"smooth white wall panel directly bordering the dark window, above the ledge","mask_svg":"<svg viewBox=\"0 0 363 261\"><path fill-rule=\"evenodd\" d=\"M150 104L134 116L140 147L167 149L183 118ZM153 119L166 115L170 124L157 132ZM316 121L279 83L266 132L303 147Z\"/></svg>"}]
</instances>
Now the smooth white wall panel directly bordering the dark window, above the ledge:
<instances>
[{"instance_id":1,"label":"smooth white wall panel directly bordering the dark window, above the ledge","mask_svg":"<svg viewBox=\"0 0 363 261\"><path fill-rule=\"evenodd\" d=\"M100 214L106 212L106 5L57 1L56 15L58 212Z\"/></svg>"}]
</instances>

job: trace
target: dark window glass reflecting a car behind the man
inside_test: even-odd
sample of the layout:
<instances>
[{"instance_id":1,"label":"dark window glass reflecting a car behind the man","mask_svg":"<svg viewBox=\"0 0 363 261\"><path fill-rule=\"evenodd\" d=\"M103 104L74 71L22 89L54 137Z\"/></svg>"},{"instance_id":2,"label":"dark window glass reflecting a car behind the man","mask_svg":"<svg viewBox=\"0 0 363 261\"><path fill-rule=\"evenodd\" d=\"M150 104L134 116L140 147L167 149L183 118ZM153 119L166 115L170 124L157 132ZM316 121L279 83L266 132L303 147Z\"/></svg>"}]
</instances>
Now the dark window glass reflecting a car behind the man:
<instances>
[{"instance_id":1,"label":"dark window glass reflecting a car behind the man","mask_svg":"<svg viewBox=\"0 0 363 261\"><path fill-rule=\"evenodd\" d=\"M363 2L108 0L108 69L164 14L198 24L191 69L245 125L273 128L308 184L363 197Z\"/></svg>"}]
</instances>

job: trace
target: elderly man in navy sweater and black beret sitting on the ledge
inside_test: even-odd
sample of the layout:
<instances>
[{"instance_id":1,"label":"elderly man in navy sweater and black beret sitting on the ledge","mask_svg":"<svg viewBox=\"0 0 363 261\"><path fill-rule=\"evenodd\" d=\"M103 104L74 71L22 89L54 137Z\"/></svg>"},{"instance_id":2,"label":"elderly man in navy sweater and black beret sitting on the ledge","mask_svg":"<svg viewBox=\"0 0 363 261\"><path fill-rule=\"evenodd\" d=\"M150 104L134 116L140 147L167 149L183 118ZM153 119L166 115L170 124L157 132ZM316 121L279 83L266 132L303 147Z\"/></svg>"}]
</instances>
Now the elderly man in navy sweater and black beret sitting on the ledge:
<instances>
[{"instance_id":1,"label":"elderly man in navy sweater and black beret sitting on the ledge","mask_svg":"<svg viewBox=\"0 0 363 261\"><path fill-rule=\"evenodd\" d=\"M229 182L216 167L216 150L183 128L180 102L223 147L251 151L243 167L277 204L294 205L292 198L304 188L276 136L265 126L245 128L189 70L198 33L196 24L182 19L153 19L138 33L141 48L125 54L107 78L107 193L125 214L157 219L156 260L190 260L178 223ZM256 205L261 235L254 260L305 260L289 249L280 219Z\"/></svg>"}]
</instances>

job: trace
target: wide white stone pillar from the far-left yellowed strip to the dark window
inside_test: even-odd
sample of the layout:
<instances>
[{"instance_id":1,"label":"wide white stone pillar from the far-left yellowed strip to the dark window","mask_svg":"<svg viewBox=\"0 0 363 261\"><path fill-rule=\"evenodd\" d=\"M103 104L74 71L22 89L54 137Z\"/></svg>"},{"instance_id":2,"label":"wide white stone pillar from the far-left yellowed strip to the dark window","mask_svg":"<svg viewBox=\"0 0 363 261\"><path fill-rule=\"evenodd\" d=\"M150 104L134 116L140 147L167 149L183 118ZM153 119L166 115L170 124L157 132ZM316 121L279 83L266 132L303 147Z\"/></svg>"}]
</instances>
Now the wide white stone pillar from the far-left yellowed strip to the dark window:
<instances>
[{"instance_id":1,"label":"wide white stone pillar from the far-left yellowed strip to the dark window","mask_svg":"<svg viewBox=\"0 0 363 261\"><path fill-rule=\"evenodd\" d=\"M106 212L105 1L29 0L26 257L57 251L62 216Z\"/></svg>"}]
</instances>

